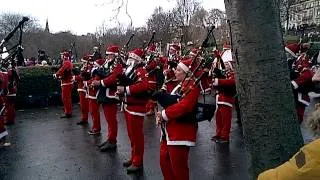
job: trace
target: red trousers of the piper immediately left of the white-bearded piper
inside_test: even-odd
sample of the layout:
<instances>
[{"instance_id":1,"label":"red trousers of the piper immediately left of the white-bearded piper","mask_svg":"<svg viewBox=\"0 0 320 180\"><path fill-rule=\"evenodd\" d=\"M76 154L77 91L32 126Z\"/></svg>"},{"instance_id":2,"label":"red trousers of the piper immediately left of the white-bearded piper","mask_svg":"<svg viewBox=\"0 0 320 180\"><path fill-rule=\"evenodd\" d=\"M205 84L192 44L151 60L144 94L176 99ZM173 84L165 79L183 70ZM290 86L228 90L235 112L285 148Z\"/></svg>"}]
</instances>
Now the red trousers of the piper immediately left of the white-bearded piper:
<instances>
[{"instance_id":1,"label":"red trousers of the piper immediately left of the white-bearded piper","mask_svg":"<svg viewBox=\"0 0 320 180\"><path fill-rule=\"evenodd\" d=\"M117 143L118 122L117 122L117 104L102 105L104 117L108 123L108 140Z\"/></svg>"}]
</instances>

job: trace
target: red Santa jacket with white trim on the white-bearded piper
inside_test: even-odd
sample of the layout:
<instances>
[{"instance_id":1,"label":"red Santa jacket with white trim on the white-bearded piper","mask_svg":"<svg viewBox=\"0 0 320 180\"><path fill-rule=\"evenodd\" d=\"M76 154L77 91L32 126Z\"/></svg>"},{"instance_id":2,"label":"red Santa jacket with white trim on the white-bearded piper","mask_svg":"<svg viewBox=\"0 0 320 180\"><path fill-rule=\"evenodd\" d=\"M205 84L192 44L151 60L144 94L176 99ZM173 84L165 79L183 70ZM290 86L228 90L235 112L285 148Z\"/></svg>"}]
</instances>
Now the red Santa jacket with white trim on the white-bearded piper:
<instances>
[{"instance_id":1,"label":"red Santa jacket with white trim on the white-bearded piper","mask_svg":"<svg viewBox=\"0 0 320 180\"><path fill-rule=\"evenodd\" d=\"M150 90L147 71L143 67L138 67L134 73L138 76L138 81L125 88L124 109L129 114L145 116Z\"/></svg>"}]
</instances>

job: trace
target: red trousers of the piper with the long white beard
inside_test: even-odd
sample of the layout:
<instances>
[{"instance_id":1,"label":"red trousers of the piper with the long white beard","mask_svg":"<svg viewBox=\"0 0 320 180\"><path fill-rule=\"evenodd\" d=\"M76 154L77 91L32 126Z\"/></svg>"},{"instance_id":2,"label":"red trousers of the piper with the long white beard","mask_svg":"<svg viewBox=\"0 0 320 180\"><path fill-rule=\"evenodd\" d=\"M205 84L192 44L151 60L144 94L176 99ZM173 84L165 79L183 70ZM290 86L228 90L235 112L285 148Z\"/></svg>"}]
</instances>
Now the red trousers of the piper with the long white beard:
<instances>
[{"instance_id":1,"label":"red trousers of the piper with the long white beard","mask_svg":"<svg viewBox=\"0 0 320 180\"><path fill-rule=\"evenodd\" d=\"M131 143L131 161L134 166L143 164L144 135L143 116L136 116L125 111L128 136Z\"/></svg>"}]
</instances>

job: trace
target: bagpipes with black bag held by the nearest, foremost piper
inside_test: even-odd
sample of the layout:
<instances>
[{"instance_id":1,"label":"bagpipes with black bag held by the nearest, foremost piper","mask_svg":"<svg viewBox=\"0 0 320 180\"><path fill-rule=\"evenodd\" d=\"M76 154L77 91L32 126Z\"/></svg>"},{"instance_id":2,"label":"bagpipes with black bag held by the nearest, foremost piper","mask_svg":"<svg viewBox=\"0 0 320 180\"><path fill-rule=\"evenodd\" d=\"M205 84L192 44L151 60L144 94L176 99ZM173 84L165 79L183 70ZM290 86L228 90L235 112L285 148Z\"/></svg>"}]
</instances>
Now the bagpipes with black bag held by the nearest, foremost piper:
<instances>
[{"instance_id":1,"label":"bagpipes with black bag held by the nearest, foremost piper","mask_svg":"<svg viewBox=\"0 0 320 180\"><path fill-rule=\"evenodd\" d=\"M193 66L196 63L196 60L202 53L204 47L206 47L209 34L212 33L213 29L215 27L211 27L207 37L203 41L200 51L197 52L196 56L193 57L191 66ZM211 62L211 61L210 61ZM185 87L188 87L188 89L184 89L184 91L181 88L181 85L184 83L184 81L187 78L187 75L184 77L184 79L180 82L178 86L180 86L180 89L177 90L177 93L175 94L168 94L165 91L157 91L153 94L152 99L154 101L157 101L164 109L178 103L179 100L183 99L187 94L191 92L191 90L197 86L199 86L201 79L208 75L207 71L203 71L200 76L196 76L197 72L200 70L200 68L205 68L209 66L210 62L206 62L204 58L201 58L201 61L198 63L197 67L191 72L189 78L195 79L193 84L191 86L188 86L191 81L188 81ZM207 100L206 100L207 99ZM207 102L206 102L207 101ZM180 117L178 121L181 122L200 122L204 120L211 121L214 111L215 111L215 97L212 94L203 94L203 96L199 96L198 103L194 107L193 111L190 113L185 114L183 117Z\"/></svg>"}]
</instances>

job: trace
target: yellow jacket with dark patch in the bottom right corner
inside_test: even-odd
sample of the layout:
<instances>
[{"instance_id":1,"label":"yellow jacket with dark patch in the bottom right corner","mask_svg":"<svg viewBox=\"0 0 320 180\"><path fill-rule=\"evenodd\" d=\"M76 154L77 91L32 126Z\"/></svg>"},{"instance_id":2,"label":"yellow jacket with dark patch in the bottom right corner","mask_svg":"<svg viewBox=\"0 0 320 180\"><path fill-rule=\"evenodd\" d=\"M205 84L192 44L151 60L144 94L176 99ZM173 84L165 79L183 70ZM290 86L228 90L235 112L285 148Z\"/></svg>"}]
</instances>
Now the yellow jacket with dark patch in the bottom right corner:
<instances>
[{"instance_id":1,"label":"yellow jacket with dark patch in the bottom right corner","mask_svg":"<svg viewBox=\"0 0 320 180\"><path fill-rule=\"evenodd\" d=\"M258 180L320 180L320 139L303 146L286 163L261 173Z\"/></svg>"}]
</instances>

